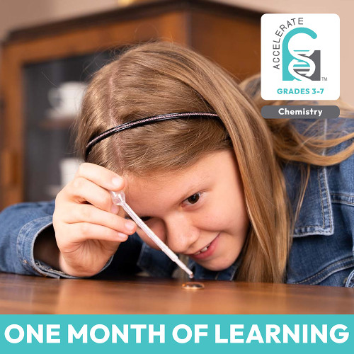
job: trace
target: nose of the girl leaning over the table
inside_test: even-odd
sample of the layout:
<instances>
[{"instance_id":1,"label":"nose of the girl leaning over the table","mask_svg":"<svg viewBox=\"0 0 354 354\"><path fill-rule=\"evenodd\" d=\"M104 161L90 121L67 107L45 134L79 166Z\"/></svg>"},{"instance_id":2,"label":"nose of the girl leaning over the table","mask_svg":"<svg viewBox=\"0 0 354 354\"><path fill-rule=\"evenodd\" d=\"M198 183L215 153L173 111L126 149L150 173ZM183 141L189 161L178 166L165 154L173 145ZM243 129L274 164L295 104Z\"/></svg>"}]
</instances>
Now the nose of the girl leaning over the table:
<instances>
[{"instance_id":1,"label":"nose of the girl leaning over the table","mask_svg":"<svg viewBox=\"0 0 354 354\"><path fill-rule=\"evenodd\" d=\"M187 218L171 217L165 219L166 244L175 253L190 253L199 237L199 229Z\"/></svg>"}]
</instances>

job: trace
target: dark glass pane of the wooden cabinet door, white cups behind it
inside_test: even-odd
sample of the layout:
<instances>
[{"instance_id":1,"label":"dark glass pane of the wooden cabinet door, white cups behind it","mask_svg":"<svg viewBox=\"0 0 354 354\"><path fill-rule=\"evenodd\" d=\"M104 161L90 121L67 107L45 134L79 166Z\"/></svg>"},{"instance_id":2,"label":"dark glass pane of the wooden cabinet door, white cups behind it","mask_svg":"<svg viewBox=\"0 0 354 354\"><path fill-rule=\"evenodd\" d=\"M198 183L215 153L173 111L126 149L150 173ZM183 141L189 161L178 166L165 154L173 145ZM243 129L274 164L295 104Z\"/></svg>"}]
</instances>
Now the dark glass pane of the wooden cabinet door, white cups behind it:
<instances>
[{"instance_id":1,"label":"dark glass pane of the wooden cabinet door, white cups behind it","mask_svg":"<svg viewBox=\"0 0 354 354\"><path fill-rule=\"evenodd\" d=\"M86 84L112 57L101 52L23 68L25 201L51 200L74 177L81 161L71 128Z\"/></svg>"}]
</instances>

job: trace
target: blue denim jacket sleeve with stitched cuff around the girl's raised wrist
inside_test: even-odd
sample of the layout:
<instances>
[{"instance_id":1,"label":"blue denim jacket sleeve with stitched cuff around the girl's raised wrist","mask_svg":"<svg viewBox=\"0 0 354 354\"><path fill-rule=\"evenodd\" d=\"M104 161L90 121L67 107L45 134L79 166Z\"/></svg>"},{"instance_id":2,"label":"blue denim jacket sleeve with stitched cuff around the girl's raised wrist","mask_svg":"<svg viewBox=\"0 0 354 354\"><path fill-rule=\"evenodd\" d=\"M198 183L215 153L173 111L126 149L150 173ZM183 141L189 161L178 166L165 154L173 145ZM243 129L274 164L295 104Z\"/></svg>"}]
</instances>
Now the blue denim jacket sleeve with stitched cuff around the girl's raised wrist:
<instances>
[{"instance_id":1,"label":"blue denim jacket sleeve with stitched cuff around the girl's raised wrist","mask_svg":"<svg viewBox=\"0 0 354 354\"><path fill-rule=\"evenodd\" d=\"M26 202L12 205L0 213L0 271L52 278L76 278L35 260L35 239L43 232L53 232L51 202ZM108 267L110 261L105 265Z\"/></svg>"}]
</instances>

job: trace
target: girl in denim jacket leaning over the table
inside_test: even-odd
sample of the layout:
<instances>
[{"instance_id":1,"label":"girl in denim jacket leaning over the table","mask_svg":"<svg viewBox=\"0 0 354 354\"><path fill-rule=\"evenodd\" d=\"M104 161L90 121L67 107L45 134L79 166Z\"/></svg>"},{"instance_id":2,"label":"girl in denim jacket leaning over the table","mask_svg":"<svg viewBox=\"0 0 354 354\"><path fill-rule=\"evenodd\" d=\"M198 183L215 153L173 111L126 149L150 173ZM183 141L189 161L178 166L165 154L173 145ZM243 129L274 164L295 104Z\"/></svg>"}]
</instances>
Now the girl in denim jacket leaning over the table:
<instances>
[{"instance_id":1,"label":"girl in denim jacket leaning over the table","mask_svg":"<svg viewBox=\"0 0 354 354\"><path fill-rule=\"evenodd\" d=\"M195 278L354 286L353 120L265 120L216 64L155 42L94 76L76 128L86 162L55 207L1 214L1 270L172 276L124 190Z\"/></svg>"}]
</instances>

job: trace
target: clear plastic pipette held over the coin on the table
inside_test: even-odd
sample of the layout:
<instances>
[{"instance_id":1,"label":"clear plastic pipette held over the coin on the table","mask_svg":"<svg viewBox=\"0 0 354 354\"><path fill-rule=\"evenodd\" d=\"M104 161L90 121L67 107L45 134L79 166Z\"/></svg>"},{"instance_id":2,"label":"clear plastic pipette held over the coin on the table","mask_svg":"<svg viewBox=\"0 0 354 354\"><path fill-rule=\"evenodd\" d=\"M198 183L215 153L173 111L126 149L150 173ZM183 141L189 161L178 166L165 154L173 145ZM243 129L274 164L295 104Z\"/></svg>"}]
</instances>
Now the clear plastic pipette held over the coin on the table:
<instances>
[{"instance_id":1,"label":"clear plastic pipette held over the coin on the table","mask_svg":"<svg viewBox=\"0 0 354 354\"><path fill-rule=\"evenodd\" d=\"M164 242L162 242L161 239L159 239L159 237L156 236L156 234L154 234L152 229L150 229L147 226L147 224L145 224L142 221L142 219L140 219L135 214L134 210L132 210L132 208L129 205L127 205L127 202L125 202L125 194L124 194L124 192L122 192L122 191L120 191L120 192L110 191L110 195L112 197L112 200L113 200L114 204L121 206L125 210L125 212L127 212L127 215L129 215L137 223L137 226L140 227L140 229L142 229L142 231L145 232L145 234L147 234L147 236L149 236L149 238L152 239L152 241L154 241L154 243L157 246L159 246L161 251L163 251L166 254L166 256L171 258L171 260L173 262L175 262L180 268L182 268L185 271L185 273L188 274L189 278L192 279L193 278L192 270L188 269L185 266L185 264L180 261L180 259L176 255L176 253L171 251L171 249L169 249L169 247L166 246L166 244L164 244Z\"/></svg>"}]
</instances>

